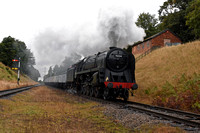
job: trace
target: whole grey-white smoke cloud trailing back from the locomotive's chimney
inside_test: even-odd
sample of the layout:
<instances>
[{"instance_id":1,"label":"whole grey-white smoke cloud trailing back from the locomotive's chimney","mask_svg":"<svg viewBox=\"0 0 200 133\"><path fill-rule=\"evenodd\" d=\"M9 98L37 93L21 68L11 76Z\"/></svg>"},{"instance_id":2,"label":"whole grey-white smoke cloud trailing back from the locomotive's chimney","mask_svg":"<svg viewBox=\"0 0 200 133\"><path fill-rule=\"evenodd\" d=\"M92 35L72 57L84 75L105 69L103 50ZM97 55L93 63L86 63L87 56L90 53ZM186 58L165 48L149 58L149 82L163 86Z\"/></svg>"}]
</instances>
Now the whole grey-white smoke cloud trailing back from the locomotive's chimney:
<instances>
[{"instance_id":1,"label":"whole grey-white smoke cloud trailing back from the locomotive's chimney","mask_svg":"<svg viewBox=\"0 0 200 133\"><path fill-rule=\"evenodd\" d=\"M84 57L108 49L126 47L143 40L144 30L137 27L133 11L120 7L102 8L97 19L62 29L45 29L35 36L34 51L37 68L66 63L67 66ZM65 60L64 60L65 59ZM68 59L68 61L66 61Z\"/></svg>"}]
</instances>

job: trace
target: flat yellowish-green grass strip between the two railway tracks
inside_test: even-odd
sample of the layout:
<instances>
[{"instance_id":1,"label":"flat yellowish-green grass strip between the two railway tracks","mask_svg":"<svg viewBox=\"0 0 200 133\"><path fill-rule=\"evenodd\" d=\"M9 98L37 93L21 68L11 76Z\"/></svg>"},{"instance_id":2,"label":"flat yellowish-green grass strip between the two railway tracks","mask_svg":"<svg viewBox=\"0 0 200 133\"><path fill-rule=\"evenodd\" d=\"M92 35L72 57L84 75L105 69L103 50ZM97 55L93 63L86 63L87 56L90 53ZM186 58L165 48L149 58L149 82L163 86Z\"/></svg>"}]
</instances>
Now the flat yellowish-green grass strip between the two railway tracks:
<instances>
[{"instance_id":1,"label":"flat yellowish-green grass strip between the two railway tracks","mask_svg":"<svg viewBox=\"0 0 200 133\"><path fill-rule=\"evenodd\" d=\"M131 132L97 103L47 87L0 99L0 107L0 132Z\"/></svg>"}]
</instances>

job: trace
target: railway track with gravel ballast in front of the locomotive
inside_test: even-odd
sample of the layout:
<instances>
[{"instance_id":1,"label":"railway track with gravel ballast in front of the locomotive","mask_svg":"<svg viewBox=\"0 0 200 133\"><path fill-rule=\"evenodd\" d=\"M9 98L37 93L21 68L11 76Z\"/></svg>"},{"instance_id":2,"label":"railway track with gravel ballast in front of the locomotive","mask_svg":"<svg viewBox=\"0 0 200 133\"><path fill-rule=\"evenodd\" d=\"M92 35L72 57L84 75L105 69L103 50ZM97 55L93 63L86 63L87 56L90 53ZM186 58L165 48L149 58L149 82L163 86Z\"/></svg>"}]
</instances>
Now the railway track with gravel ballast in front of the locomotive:
<instances>
[{"instance_id":1,"label":"railway track with gravel ballast in front of the locomotive","mask_svg":"<svg viewBox=\"0 0 200 133\"><path fill-rule=\"evenodd\" d=\"M176 127L181 127L187 131L198 131L200 132L200 115L170 108L164 108L159 106L152 106L142 103L136 103L127 101L124 102L122 100L116 101L105 101L103 99L98 99L94 97L83 96L84 98L88 98L97 102L106 103L106 104L114 104L118 105L121 108L133 110L139 113L144 113L153 117L156 117L159 120L167 120L169 124Z\"/></svg>"}]
</instances>

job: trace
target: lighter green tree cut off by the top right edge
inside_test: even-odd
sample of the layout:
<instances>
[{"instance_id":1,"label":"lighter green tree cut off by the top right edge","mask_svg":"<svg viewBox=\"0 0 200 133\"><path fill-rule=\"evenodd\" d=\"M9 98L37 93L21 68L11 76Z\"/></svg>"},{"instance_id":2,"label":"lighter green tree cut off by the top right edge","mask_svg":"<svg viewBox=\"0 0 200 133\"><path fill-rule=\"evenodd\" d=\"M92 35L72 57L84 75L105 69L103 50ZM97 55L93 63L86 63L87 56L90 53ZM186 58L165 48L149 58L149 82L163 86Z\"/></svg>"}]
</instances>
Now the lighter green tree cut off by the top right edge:
<instances>
[{"instance_id":1,"label":"lighter green tree cut off by the top right edge","mask_svg":"<svg viewBox=\"0 0 200 133\"><path fill-rule=\"evenodd\" d=\"M196 39L200 38L200 0L193 0L187 8L186 25Z\"/></svg>"}]
</instances>

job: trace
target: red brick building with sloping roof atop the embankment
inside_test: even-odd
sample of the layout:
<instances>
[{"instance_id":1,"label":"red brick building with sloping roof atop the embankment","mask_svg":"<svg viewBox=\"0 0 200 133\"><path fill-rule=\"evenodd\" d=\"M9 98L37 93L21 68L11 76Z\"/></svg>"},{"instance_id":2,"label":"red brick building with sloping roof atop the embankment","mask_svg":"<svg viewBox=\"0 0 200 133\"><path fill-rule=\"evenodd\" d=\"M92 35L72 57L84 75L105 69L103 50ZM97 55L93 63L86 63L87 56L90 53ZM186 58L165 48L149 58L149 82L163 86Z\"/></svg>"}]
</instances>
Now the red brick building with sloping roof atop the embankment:
<instances>
[{"instance_id":1,"label":"red brick building with sloping roof atop the embankment","mask_svg":"<svg viewBox=\"0 0 200 133\"><path fill-rule=\"evenodd\" d=\"M141 54L155 47L172 46L178 44L181 44L181 39L172 31L166 29L145 39L143 42L134 44L132 47L132 54Z\"/></svg>"}]
</instances>

